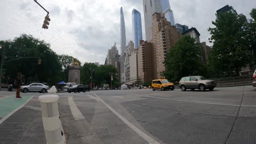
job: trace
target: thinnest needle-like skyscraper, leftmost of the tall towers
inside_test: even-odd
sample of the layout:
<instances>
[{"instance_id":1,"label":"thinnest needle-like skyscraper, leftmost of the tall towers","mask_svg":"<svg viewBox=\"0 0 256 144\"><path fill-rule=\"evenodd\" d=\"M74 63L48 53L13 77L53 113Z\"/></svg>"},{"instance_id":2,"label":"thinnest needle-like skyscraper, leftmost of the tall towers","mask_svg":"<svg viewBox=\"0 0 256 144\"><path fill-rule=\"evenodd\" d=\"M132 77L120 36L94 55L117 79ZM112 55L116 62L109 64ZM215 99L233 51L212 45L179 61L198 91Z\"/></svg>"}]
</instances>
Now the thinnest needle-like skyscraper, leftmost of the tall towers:
<instances>
[{"instance_id":1,"label":"thinnest needle-like skyscraper, leftmost of the tall towers","mask_svg":"<svg viewBox=\"0 0 256 144\"><path fill-rule=\"evenodd\" d=\"M123 54L125 48L126 48L126 36L125 36L125 21L124 21L124 13L123 13L123 7L121 7L120 10L120 37L121 37L121 55Z\"/></svg>"}]
</instances>

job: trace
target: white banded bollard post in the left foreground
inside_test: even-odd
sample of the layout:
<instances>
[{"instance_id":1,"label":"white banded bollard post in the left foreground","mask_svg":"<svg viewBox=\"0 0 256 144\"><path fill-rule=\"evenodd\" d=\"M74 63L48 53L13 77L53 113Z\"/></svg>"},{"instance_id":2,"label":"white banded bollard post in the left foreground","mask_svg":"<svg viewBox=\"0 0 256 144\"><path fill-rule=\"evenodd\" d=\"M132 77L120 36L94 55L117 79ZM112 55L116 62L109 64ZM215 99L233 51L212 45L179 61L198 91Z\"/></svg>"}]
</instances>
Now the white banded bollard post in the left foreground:
<instances>
[{"instance_id":1,"label":"white banded bollard post in the left foreground","mask_svg":"<svg viewBox=\"0 0 256 144\"><path fill-rule=\"evenodd\" d=\"M65 144L63 138L63 129L60 121L58 109L58 95L41 95L39 98L41 103L42 119L44 125L44 134L47 144Z\"/></svg>"}]
</instances>

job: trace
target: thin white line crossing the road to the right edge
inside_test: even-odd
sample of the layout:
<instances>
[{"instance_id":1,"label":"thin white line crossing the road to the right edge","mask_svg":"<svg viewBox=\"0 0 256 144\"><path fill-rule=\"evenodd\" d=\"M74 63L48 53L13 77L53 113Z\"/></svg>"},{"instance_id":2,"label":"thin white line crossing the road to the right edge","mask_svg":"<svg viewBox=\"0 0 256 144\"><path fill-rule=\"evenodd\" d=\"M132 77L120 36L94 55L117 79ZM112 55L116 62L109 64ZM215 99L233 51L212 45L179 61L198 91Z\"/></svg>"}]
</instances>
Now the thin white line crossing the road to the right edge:
<instances>
[{"instance_id":1,"label":"thin white line crossing the road to the right edge","mask_svg":"<svg viewBox=\"0 0 256 144\"><path fill-rule=\"evenodd\" d=\"M133 94L133 93L127 93L127 94ZM133 95L139 95L139 96L142 96L142 97L149 97L149 98L156 98L156 99L166 99L166 100L173 100L173 101L183 101L183 102L188 102L188 103L211 104L211 105L225 105L225 106L240 106L240 105L219 104L219 103L207 103L207 102L190 101L190 100L168 99L168 98L153 97L153 96L141 95L141 94L133 94ZM256 107L256 105L241 105L241 107Z\"/></svg>"}]
</instances>

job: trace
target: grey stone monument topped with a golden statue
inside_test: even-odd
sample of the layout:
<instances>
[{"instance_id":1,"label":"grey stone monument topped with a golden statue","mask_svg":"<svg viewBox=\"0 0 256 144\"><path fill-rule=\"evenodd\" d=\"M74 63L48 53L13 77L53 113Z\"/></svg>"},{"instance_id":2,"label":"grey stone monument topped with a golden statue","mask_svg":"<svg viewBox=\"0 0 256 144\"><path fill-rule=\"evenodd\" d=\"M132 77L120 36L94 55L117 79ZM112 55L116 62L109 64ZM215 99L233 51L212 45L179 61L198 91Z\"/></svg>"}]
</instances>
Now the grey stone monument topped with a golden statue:
<instances>
[{"instance_id":1,"label":"grey stone monument topped with a golden statue","mask_svg":"<svg viewBox=\"0 0 256 144\"><path fill-rule=\"evenodd\" d=\"M68 82L75 82L77 84L80 84L80 66L77 59L75 58L72 65L69 66Z\"/></svg>"}]
</instances>

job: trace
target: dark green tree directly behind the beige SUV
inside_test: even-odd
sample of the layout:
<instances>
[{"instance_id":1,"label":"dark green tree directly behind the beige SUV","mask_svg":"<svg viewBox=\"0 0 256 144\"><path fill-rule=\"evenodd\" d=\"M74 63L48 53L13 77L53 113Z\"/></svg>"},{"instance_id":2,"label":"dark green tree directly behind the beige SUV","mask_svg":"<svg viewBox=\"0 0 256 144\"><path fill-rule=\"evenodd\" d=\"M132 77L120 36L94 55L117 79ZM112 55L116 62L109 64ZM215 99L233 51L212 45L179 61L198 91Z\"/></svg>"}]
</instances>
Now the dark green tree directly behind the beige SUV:
<instances>
[{"instance_id":1,"label":"dark green tree directly behind the beige SUV","mask_svg":"<svg viewBox=\"0 0 256 144\"><path fill-rule=\"evenodd\" d=\"M185 35L167 53L163 75L171 81L179 81L183 76L205 75L206 69L201 56L201 44L195 43L190 35Z\"/></svg>"}]
</instances>

